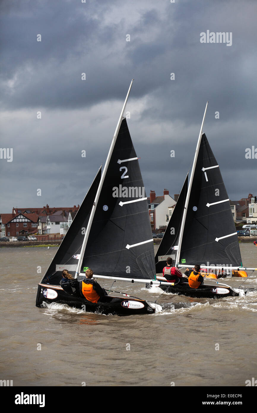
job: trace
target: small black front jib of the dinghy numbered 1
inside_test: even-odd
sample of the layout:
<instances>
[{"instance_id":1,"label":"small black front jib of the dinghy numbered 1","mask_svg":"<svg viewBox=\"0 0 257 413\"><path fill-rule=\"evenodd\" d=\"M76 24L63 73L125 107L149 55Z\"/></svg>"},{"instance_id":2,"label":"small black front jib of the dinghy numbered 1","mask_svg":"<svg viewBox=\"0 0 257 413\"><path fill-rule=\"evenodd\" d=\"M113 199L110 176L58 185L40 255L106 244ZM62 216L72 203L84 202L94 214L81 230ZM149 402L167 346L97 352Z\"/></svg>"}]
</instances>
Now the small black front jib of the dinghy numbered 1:
<instances>
[{"instance_id":1,"label":"small black front jib of the dinghy numbered 1","mask_svg":"<svg viewBox=\"0 0 257 413\"><path fill-rule=\"evenodd\" d=\"M163 272L163 267L165 267L166 265L166 259L168 256L171 257L173 260L176 258L177 249L174 249L174 247L178 244L183 209L186 202L187 187L188 174L186 176L182 190L179 194L173 214L170 217L170 221L167 225L167 228L165 230L165 233L155 255L156 273Z\"/></svg>"}]
</instances>

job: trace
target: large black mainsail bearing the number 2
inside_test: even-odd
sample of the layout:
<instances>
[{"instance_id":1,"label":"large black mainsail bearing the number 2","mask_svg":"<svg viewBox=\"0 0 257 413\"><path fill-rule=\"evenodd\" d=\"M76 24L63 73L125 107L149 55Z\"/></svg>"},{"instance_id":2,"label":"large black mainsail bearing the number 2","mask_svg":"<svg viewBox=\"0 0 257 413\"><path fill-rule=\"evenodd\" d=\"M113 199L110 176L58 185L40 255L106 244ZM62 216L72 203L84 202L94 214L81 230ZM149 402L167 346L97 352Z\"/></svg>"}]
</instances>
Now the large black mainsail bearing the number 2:
<instances>
[{"instance_id":1,"label":"large black mainsail bearing the number 2","mask_svg":"<svg viewBox=\"0 0 257 413\"><path fill-rule=\"evenodd\" d=\"M96 275L155 278L148 204L126 119L108 164L81 273L86 268Z\"/></svg>"}]
</instances>

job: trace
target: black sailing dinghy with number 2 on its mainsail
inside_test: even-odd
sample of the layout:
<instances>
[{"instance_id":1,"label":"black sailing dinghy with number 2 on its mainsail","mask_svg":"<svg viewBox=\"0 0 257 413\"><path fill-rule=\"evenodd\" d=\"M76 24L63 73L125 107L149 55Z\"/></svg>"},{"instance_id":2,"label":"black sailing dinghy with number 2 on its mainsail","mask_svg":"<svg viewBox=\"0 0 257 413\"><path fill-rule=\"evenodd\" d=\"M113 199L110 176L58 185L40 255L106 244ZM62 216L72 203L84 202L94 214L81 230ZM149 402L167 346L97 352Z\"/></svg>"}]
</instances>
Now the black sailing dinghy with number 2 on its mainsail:
<instances>
[{"instance_id":1,"label":"black sailing dinghy with number 2 on its mainsail","mask_svg":"<svg viewBox=\"0 0 257 413\"><path fill-rule=\"evenodd\" d=\"M136 297L106 295L97 303L60 286L67 269L78 281L91 268L94 278L127 282L155 282L153 237L139 161L123 113L113 136L103 173L87 192L64 240L38 284L36 306L61 303L102 314L149 314L162 307ZM124 296L126 298L124 298Z\"/></svg>"}]
</instances>

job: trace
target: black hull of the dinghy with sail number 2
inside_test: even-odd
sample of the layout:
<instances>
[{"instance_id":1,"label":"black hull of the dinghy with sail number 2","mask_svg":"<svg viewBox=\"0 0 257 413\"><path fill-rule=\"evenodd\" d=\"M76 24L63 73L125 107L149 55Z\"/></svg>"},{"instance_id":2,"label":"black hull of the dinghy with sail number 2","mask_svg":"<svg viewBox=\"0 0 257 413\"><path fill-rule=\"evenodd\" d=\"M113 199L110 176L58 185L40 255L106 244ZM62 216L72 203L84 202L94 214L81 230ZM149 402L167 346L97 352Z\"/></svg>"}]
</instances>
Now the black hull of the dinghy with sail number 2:
<instances>
[{"instance_id":1,"label":"black hull of the dinghy with sail number 2","mask_svg":"<svg viewBox=\"0 0 257 413\"><path fill-rule=\"evenodd\" d=\"M47 297L48 295L48 297ZM101 302L92 303L87 299L67 294L56 285L38 284L36 307L43 307L44 303L67 304L70 307L83 309L85 312L98 314L112 314L118 316L130 316L132 314L152 314L156 311L155 304L132 297L113 297L106 295L101 297Z\"/></svg>"}]
</instances>

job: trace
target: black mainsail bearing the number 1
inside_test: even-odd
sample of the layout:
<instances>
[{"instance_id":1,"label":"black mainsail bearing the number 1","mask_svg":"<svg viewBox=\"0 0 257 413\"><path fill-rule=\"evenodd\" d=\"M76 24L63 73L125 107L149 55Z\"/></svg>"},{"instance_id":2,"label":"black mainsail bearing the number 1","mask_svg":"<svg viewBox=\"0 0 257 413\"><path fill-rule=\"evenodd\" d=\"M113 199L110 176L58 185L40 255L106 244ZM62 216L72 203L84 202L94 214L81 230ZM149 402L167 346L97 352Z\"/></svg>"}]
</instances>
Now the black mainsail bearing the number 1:
<instances>
[{"instance_id":1,"label":"black mainsail bearing the number 1","mask_svg":"<svg viewBox=\"0 0 257 413\"><path fill-rule=\"evenodd\" d=\"M229 197L205 134L193 176L179 264L241 266Z\"/></svg>"}]
</instances>

